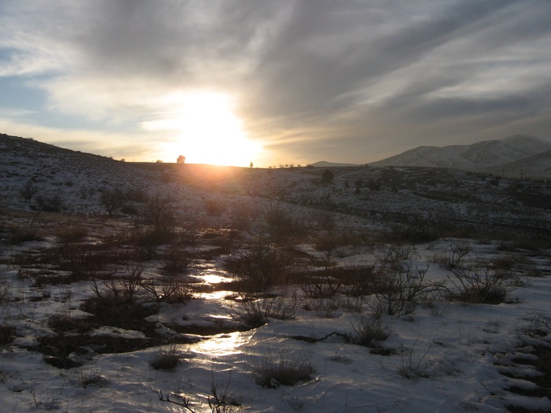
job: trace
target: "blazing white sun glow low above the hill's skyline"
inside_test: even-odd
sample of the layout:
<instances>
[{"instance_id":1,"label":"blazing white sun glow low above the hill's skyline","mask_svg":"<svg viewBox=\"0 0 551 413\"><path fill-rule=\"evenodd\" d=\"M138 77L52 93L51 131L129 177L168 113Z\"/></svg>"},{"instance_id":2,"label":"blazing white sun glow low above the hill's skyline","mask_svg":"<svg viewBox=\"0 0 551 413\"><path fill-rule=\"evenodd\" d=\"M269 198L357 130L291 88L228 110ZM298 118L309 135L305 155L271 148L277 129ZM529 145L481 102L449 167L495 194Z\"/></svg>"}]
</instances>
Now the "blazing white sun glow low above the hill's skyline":
<instances>
[{"instance_id":1,"label":"blazing white sun glow low above the hill's skyline","mask_svg":"<svg viewBox=\"0 0 551 413\"><path fill-rule=\"evenodd\" d=\"M149 131L170 136L162 149L187 163L249 166L262 151L247 137L241 120L234 114L229 96L214 92L185 92L163 99L165 110L156 120L142 123Z\"/></svg>"}]
</instances>

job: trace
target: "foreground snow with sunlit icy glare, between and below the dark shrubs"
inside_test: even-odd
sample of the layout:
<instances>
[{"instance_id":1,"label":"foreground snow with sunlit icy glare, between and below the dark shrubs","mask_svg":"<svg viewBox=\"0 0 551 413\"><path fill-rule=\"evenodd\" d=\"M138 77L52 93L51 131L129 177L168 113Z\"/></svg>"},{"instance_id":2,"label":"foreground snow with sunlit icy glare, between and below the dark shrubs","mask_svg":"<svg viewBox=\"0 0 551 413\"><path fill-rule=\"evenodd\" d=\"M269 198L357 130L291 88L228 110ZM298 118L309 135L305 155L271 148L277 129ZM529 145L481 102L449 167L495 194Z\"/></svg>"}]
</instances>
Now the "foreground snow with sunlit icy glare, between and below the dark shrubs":
<instances>
[{"instance_id":1,"label":"foreground snow with sunlit icy glare, between and below the dark shrubs","mask_svg":"<svg viewBox=\"0 0 551 413\"><path fill-rule=\"evenodd\" d=\"M446 254L450 242L440 240L419 244L410 252L413 265L426 268L426 280L449 282L449 271L430 262L435 255ZM44 243L43 243L44 244ZM11 247L8 255L45 245L33 243ZM202 248L206 248L203 245ZM310 248L310 249L309 249ZM337 266L351 267L374 262L384 246L342 248ZM362 251L362 249L364 251ZM309 245L302 250L323 255ZM6 249L4 250L6 253ZM500 253L496 244L472 243L466 257L473 262L498 262L510 257ZM551 263L548 256L514 255L514 285L506 286L506 300L497 305L465 304L434 299L418 305L403 317L382 315L391 330L380 346L391 354L372 354L369 348L347 342L353 334L357 312L370 313L374 297L362 297L354 308L342 305L331 317L320 317L314 310L298 308L291 320L269 319L264 326L247 331L226 332L196 341L164 347L145 348L120 354L89 352L71 354L82 361L75 368L59 369L32 351L37 337L52 335L48 320L53 315L79 318L81 300L92 295L89 282L68 285L32 286L18 268L4 265L3 282L10 284L10 297L4 301L3 323L17 327L17 337L2 346L0 371L3 411L61 410L67 412L162 412L180 411L180 407L160 401L158 391L189 397L189 408L210 411L211 385L226 391L232 401L226 406L251 412L502 412L506 406L526 411L551 411L545 396L533 396L536 387L530 377L537 370L527 365L534 348L551 345L549 297ZM150 266L149 270L155 265ZM219 264L202 262L190 275L216 284L230 279ZM289 288L297 294L290 293ZM277 288L275 288L277 291ZM288 286L285 294L300 300L298 286ZM183 304L163 304L149 317L158 328L172 324L231 326L236 302L225 297L231 292L214 291L196 295ZM299 296L297 298L297 296ZM40 299L40 297L42 297ZM229 328L231 330L231 328ZM304 337L327 339L308 342ZM78 334L72 332L70 334ZM93 334L139 339L143 333L122 328L100 327ZM295 337L295 338L293 338ZM167 339L169 340L169 339ZM313 341L313 340L311 340ZM154 370L152 357L161 350L178 354L178 364L169 370ZM251 374L268 354L300 354L311 363L308 381L295 386L261 387ZM510 391L526 390L526 394Z\"/></svg>"}]
</instances>

